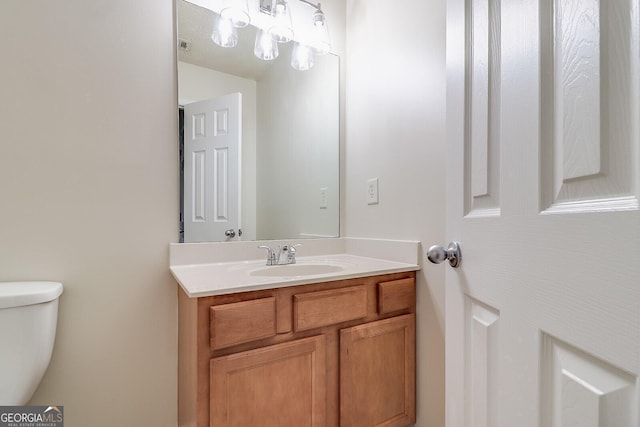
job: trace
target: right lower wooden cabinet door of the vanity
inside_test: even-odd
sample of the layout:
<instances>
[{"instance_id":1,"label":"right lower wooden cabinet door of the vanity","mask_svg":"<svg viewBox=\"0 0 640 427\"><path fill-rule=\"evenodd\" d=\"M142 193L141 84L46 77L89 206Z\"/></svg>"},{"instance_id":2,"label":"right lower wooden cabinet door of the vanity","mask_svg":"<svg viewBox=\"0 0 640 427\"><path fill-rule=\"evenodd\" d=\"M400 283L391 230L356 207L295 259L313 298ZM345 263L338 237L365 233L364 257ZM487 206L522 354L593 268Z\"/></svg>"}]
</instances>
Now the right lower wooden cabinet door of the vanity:
<instances>
[{"instance_id":1,"label":"right lower wooden cabinet door of the vanity","mask_svg":"<svg viewBox=\"0 0 640 427\"><path fill-rule=\"evenodd\" d=\"M340 331L340 426L415 423L415 314Z\"/></svg>"}]
</instances>

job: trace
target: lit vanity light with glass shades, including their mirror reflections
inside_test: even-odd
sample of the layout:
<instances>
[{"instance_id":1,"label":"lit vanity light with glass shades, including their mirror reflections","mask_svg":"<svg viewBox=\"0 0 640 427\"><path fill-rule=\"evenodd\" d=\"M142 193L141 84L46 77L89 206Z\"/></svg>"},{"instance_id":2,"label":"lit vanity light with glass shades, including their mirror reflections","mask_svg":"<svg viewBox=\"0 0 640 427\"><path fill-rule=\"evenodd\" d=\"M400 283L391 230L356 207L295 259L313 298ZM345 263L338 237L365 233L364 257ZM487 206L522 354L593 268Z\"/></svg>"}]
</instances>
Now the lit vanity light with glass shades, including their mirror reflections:
<instances>
[{"instance_id":1,"label":"lit vanity light with glass shades, including their mirror reflections","mask_svg":"<svg viewBox=\"0 0 640 427\"><path fill-rule=\"evenodd\" d=\"M311 6L314 11L310 20L296 22L294 31L288 0L258 0L259 12L268 16L263 19L260 15L253 15L259 27L253 52L256 57L269 61L278 57L278 43L294 40L291 66L296 70L308 70L313 67L314 55L324 55L331 51L329 29L320 3L297 1ZM220 15L216 15L211 39L222 47L236 46L236 29L247 26L251 21L250 17L248 0L224 0Z\"/></svg>"}]
</instances>

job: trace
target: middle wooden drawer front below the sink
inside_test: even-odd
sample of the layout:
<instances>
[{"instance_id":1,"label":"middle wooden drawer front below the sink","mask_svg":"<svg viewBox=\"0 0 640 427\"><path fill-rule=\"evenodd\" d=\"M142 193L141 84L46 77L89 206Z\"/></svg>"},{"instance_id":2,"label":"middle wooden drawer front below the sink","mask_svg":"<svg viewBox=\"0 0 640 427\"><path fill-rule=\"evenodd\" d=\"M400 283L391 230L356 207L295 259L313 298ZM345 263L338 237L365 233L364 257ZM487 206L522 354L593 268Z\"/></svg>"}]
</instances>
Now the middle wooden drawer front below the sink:
<instances>
[{"instance_id":1,"label":"middle wooden drawer front below the sink","mask_svg":"<svg viewBox=\"0 0 640 427\"><path fill-rule=\"evenodd\" d=\"M367 317L367 288L364 285L293 296L295 331L364 317Z\"/></svg>"}]
</instances>

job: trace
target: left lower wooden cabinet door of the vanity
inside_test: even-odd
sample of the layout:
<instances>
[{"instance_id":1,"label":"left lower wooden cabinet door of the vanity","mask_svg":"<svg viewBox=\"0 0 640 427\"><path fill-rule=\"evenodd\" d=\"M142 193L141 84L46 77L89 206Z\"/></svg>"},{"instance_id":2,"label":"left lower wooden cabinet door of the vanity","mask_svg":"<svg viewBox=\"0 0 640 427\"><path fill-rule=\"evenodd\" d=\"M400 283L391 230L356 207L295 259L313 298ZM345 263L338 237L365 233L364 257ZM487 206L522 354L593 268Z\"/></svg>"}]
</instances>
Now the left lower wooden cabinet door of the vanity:
<instances>
[{"instance_id":1,"label":"left lower wooden cabinet door of the vanity","mask_svg":"<svg viewBox=\"0 0 640 427\"><path fill-rule=\"evenodd\" d=\"M323 335L211 359L210 426L324 426L325 375Z\"/></svg>"}]
</instances>

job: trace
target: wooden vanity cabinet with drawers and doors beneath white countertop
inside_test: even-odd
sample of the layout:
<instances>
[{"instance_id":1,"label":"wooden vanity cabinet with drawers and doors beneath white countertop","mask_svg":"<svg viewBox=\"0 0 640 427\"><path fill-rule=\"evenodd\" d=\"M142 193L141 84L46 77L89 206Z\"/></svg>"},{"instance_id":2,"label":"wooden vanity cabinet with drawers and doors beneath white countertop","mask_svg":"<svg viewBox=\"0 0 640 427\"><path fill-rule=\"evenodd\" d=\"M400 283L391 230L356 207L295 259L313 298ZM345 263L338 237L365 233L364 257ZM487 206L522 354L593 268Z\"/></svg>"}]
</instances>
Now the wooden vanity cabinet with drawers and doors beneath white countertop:
<instances>
[{"instance_id":1,"label":"wooden vanity cabinet with drawers and doors beneath white countertop","mask_svg":"<svg viewBox=\"0 0 640 427\"><path fill-rule=\"evenodd\" d=\"M179 426L415 423L415 273L179 291Z\"/></svg>"}]
</instances>

